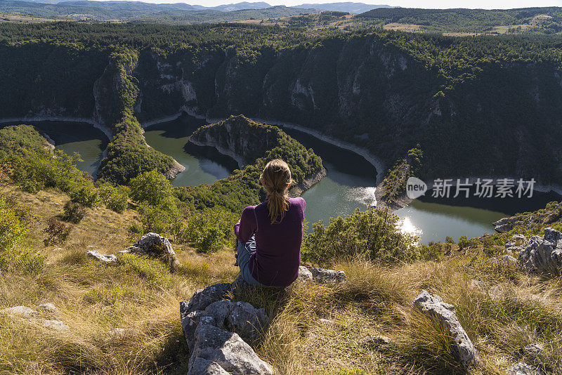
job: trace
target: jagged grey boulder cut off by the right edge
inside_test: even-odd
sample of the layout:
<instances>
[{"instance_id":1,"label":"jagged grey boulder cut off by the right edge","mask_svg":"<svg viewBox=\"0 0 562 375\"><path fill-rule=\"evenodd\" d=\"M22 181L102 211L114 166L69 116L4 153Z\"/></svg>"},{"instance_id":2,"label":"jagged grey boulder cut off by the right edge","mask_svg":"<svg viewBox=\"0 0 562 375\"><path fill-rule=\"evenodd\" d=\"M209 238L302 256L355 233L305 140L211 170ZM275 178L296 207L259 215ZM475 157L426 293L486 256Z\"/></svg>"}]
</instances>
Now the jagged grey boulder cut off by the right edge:
<instances>
[{"instance_id":1,"label":"jagged grey boulder cut off by the right edge","mask_svg":"<svg viewBox=\"0 0 562 375\"><path fill-rule=\"evenodd\" d=\"M517 260L527 272L554 273L562 271L562 233L552 228L544 230L544 237L532 236Z\"/></svg>"}]
</instances>

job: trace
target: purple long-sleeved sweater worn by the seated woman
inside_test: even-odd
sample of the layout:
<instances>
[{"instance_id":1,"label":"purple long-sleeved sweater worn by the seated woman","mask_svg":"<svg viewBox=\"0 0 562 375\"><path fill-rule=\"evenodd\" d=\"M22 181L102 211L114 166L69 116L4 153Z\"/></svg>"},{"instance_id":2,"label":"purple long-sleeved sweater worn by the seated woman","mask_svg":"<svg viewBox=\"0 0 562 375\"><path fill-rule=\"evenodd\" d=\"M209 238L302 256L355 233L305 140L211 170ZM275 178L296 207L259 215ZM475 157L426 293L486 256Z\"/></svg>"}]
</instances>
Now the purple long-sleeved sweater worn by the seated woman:
<instances>
[{"instance_id":1,"label":"purple long-sleeved sweater worn by the seated woman","mask_svg":"<svg viewBox=\"0 0 562 375\"><path fill-rule=\"evenodd\" d=\"M256 252L248 263L252 277L264 285L287 287L299 276L303 219L306 202L289 198L291 202L281 223L271 224L267 201L247 206L240 224L234 226L238 241L256 239Z\"/></svg>"}]
</instances>

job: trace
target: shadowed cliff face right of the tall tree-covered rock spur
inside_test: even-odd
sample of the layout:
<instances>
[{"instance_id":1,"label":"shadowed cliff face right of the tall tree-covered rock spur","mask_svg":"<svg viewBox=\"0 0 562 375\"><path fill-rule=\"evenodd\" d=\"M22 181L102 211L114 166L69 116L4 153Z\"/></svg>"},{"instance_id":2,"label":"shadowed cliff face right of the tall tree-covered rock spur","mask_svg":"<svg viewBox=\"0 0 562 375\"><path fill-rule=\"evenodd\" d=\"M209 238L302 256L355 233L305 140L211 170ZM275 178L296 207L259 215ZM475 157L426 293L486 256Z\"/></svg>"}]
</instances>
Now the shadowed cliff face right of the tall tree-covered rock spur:
<instances>
[{"instance_id":1,"label":"shadowed cliff face right of the tall tree-covered rock spur","mask_svg":"<svg viewBox=\"0 0 562 375\"><path fill-rule=\"evenodd\" d=\"M428 177L562 181L561 79L547 63L491 62L447 86L442 72L376 36L259 52L250 61L220 50L144 53L138 116L241 113L367 147L387 165L419 143Z\"/></svg>"}]
</instances>

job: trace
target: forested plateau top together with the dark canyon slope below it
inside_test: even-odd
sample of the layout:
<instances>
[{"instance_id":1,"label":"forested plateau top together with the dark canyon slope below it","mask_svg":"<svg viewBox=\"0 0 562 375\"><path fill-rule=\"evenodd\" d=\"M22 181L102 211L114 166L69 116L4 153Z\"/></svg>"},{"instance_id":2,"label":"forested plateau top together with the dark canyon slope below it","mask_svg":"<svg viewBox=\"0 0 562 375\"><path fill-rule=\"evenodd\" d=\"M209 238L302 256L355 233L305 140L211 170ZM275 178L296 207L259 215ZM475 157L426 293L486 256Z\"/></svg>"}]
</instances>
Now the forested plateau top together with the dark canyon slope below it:
<instances>
[{"instance_id":1,"label":"forested plateau top together with the dark canyon slope below it","mask_svg":"<svg viewBox=\"0 0 562 375\"><path fill-rule=\"evenodd\" d=\"M101 77L109 51L131 51L134 63L115 77L126 77L131 89L125 101L133 122L180 111L211 118L244 114L329 133L367 147L387 165L419 143L425 176L562 181L561 39L402 32L311 36L247 25L72 23L1 25L0 37L6 51L0 72L8 77L0 84L1 117L64 107L60 114L81 108L81 113L120 121L119 110L93 105L103 101L93 98L95 85L86 69L74 75L61 69L60 74L70 75L52 84L37 77L77 64L72 56L87 53L99 55L92 72ZM65 53L74 60L58 55L61 49L72 51ZM27 77L34 79L17 73L22 60L11 51L27 53ZM30 89L23 89L19 100L24 104L5 105L11 103L11 88L26 79ZM44 94L46 88L70 92L65 90L69 81L80 88L69 95L74 105L63 106L56 96ZM127 170L119 178L136 173Z\"/></svg>"}]
</instances>

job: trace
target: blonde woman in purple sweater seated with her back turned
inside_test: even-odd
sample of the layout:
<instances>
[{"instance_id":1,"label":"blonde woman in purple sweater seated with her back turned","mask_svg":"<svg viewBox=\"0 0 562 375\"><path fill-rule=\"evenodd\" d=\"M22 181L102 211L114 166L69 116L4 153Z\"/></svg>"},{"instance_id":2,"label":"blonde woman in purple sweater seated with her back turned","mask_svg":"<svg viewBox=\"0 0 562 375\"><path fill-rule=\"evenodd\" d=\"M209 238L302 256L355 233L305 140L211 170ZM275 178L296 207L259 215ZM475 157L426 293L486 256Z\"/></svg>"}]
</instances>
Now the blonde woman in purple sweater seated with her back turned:
<instances>
[{"instance_id":1,"label":"blonde woman in purple sweater seated with her back turned","mask_svg":"<svg viewBox=\"0 0 562 375\"><path fill-rule=\"evenodd\" d=\"M266 164L260 181L266 202L246 207L234 226L240 276L256 287L287 287L299 276L306 202L287 197L291 171L281 159Z\"/></svg>"}]
</instances>

